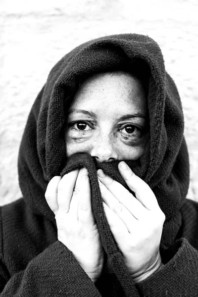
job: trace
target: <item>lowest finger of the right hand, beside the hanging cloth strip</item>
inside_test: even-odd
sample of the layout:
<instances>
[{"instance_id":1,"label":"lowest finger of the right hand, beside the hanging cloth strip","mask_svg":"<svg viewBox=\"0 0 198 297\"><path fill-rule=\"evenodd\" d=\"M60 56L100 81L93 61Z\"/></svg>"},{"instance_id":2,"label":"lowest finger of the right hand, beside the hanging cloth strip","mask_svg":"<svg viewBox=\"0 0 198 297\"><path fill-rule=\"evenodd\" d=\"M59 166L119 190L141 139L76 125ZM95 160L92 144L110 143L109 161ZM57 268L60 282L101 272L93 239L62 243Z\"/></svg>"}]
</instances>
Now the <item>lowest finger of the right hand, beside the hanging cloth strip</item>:
<instances>
[{"instance_id":1,"label":"lowest finger of the right hand, beside the hanging cloth strip","mask_svg":"<svg viewBox=\"0 0 198 297\"><path fill-rule=\"evenodd\" d=\"M109 224L111 233L117 245L123 245L127 240L129 232L123 221L103 202L104 212Z\"/></svg>"}]
</instances>

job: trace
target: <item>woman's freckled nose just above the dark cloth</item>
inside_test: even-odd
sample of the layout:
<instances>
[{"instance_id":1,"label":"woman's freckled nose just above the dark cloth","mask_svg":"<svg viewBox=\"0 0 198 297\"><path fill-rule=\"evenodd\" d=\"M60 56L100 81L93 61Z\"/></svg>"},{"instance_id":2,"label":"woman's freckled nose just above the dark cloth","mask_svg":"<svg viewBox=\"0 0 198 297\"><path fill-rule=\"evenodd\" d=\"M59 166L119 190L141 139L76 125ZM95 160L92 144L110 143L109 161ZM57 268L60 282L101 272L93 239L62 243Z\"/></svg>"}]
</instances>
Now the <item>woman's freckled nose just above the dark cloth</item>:
<instances>
[{"instance_id":1,"label":"woman's freckled nose just above the dark cloth","mask_svg":"<svg viewBox=\"0 0 198 297\"><path fill-rule=\"evenodd\" d=\"M113 143L107 135L100 135L96 138L93 142L91 155L96 158L97 162L110 162L118 158Z\"/></svg>"}]
</instances>

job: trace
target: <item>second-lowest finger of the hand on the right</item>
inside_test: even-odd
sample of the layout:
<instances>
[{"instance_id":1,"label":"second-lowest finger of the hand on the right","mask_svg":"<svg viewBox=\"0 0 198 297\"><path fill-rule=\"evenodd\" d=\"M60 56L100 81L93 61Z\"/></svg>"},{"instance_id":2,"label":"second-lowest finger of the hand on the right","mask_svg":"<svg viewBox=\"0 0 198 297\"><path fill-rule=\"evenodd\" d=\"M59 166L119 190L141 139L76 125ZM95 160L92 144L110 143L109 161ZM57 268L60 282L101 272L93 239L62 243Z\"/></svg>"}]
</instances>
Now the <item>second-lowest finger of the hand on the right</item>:
<instances>
[{"instance_id":1,"label":"second-lowest finger of the hand on the right","mask_svg":"<svg viewBox=\"0 0 198 297\"><path fill-rule=\"evenodd\" d=\"M101 182L99 186L105 204L123 221L127 230L131 233L134 230L134 226L137 225L137 219Z\"/></svg>"}]
</instances>

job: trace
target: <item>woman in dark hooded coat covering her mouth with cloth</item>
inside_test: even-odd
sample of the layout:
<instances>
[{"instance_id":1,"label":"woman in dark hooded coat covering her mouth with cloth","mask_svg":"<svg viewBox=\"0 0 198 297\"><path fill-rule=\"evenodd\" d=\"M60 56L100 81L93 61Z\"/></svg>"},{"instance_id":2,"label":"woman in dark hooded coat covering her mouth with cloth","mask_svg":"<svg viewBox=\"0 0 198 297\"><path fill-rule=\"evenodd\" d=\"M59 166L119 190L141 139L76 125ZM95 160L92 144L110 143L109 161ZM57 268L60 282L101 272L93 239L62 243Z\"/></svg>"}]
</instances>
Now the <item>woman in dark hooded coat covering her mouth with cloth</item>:
<instances>
[{"instance_id":1,"label":"woman in dark hooded coat covering her mouth with cloth","mask_svg":"<svg viewBox=\"0 0 198 297\"><path fill-rule=\"evenodd\" d=\"M64 56L24 131L23 199L1 208L1 296L197 296L183 130L147 36L99 38Z\"/></svg>"}]
</instances>

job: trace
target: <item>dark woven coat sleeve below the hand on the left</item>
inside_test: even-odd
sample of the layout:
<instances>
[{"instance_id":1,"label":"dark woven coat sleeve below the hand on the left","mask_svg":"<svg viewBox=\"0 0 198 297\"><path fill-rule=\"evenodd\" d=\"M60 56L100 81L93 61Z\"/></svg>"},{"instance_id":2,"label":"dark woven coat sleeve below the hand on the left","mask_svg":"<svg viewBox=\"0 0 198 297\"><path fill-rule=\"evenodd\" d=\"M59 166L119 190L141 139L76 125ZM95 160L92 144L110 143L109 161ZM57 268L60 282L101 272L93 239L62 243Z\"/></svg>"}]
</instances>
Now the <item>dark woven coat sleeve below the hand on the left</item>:
<instances>
[{"instance_id":1,"label":"dark woven coat sleeve below the hand on the left","mask_svg":"<svg viewBox=\"0 0 198 297\"><path fill-rule=\"evenodd\" d=\"M0 297L99 297L99 291L72 253L59 241L7 280L0 265Z\"/></svg>"}]
</instances>

